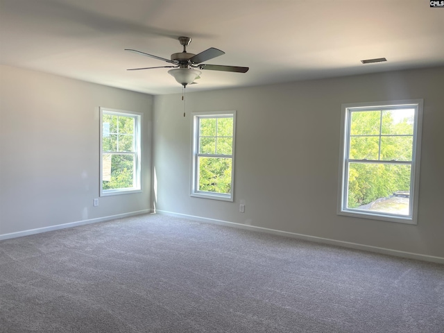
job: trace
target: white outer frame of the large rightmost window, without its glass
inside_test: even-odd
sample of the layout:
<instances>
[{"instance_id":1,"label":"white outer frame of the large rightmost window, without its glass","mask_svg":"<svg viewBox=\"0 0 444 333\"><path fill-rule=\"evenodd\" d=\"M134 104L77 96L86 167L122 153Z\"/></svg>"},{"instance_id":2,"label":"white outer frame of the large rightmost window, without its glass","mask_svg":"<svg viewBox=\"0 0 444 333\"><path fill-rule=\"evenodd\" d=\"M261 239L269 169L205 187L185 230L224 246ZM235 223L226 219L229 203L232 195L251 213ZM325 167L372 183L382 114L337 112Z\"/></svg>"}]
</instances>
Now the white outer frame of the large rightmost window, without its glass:
<instances>
[{"instance_id":1,"label":"white outer frame of the large rightmost window, without its glass","mask_svg":"<svg viewBox=\"0 0 444 333\"><path fill-rule=\"evenodd\" d=\"M411 160L410 178L410 205L409 215L388 214L384 212L370 212L359 210L359 207L350 209L348 200L348 149L350 147L350 114L352 110L381 110L384 108L414 108L416 110L413 126L413 151ZM339 160L339 189L337 214L344 216L376 219L398 223L416 225L418 223L418 198L420 176L420 147L422 130L422 99L409 99L401 101L384 101L371 103L348 103L341 108L341 155Z\"/></svg>"}]
</instances>

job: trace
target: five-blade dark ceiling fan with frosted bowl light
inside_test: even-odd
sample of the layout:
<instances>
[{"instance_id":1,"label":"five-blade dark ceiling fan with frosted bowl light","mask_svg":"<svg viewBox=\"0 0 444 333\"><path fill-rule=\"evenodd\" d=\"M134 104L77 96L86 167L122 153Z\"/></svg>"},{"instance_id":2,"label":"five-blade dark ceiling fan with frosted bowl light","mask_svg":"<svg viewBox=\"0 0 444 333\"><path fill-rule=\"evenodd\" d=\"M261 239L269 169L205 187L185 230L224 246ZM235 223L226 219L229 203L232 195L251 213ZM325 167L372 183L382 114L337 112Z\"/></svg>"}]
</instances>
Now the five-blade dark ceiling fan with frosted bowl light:
<instances>
[{"instance_id":1,"label":"five-blade dark ceiling fan with frosted bowl light","mask_svg":"<svg viewBox=\"0 0 444 333\"><path fill-rule=\"evenodd\" d=\"M174 68L170 69L168 73L176 78L176 81L183 85L183 87L186 87L187 85L193 83L194 80L199 77L201 71L199 71L198 69L209 69L211 71L233 71L236 73L246 73L249 69L248 67L202 64L202 62L222 56L223 54L225 54L225 52L219 49L215 49L214 47L210 47L210 49L202 51L198 54L188 53L187 46L189 45L189 43L191 43L191 38L179 37L178 40L180 42L180 45L183 46L183 51L180 53L171 54L171 60L158 56L153 56L152 54L148 54L142 51L125 49L125 51L134 52L142 56L147 56L158 60L164 60L171 64L170 66L132 68L128 69L128 71L139 71L141 69L153 68Z\"/></svg>"}]
</instances>

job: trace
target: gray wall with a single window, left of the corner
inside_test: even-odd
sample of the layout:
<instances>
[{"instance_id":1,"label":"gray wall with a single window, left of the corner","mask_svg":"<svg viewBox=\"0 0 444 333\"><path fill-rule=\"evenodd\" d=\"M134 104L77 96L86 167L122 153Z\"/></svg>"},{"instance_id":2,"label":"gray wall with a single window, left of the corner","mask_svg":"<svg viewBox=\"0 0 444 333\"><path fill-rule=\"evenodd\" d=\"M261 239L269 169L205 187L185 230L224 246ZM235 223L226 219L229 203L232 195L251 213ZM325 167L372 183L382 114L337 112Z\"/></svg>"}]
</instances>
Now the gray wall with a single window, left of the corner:
<instances>
[{"instance_id":1,"label":"gray wall with a single window, left of the corner","mask_svg":"<svg viewBox=\"0 0 444 333\"><path fill-rule=\"evenodd\" d=\"M13 67L0 76L0 237L150 209L153 96ZM142 193L99 198L99 106L144 113Z\"/></svg>"}]
</instances>

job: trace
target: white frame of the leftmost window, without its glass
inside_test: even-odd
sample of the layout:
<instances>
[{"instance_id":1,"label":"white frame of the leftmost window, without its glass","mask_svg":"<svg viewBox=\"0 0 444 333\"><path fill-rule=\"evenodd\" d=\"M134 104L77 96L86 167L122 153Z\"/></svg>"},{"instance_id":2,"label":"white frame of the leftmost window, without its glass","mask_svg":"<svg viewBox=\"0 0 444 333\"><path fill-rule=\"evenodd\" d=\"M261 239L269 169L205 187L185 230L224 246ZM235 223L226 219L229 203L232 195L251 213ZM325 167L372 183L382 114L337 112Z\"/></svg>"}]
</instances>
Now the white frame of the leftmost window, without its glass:
<instances>
[{"instance_id":1,"label":"white frame of the leftmost window, without its glass","mask_svg":"<svg viewBox=\"0 0 444 333\"><path fill-rule=\"evenodd\" d=\"M130 194L142 192L142 117L143 114L139 112L132 112L126 110L117 110L112 108L99 108L100 113L100 194L99 196L115 196L119 194ZM133 117L135 119L135 151L125 152L124 155L134 156L134 169L133 169L133 187L121 188L121 189L103 189L103 154L113 153L103 151L103 114L112 114L123 117ZM122 152L114 152L122 154Z\"/></svg>"}]
</instances>

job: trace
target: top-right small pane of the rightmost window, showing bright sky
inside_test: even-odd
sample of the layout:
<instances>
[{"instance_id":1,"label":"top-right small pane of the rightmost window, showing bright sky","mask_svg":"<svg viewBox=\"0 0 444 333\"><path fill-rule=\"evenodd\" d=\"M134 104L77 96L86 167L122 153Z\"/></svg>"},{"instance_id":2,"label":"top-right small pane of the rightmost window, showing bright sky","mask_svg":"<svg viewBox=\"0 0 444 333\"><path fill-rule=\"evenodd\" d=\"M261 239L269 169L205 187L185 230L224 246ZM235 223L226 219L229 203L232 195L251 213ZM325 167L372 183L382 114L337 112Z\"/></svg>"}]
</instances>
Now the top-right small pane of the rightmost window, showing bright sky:
<instances>
[{"instance_id":1,"label":"top-right small pane of the rightmost window, showing bright sky","mask_svg":"<svg viewBox=\"0 0 444 333\"><path fill-rule=\"evenodd\" d=\"M413 135L414 109L382 112L382 134Z\"/></svg>"}]
</instances>

